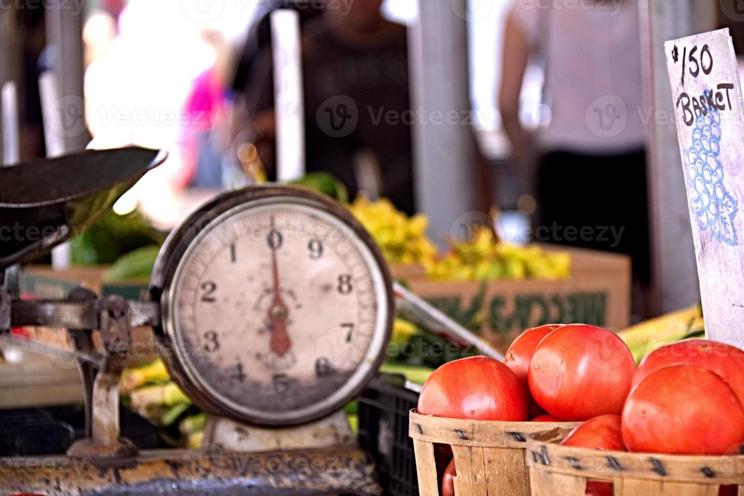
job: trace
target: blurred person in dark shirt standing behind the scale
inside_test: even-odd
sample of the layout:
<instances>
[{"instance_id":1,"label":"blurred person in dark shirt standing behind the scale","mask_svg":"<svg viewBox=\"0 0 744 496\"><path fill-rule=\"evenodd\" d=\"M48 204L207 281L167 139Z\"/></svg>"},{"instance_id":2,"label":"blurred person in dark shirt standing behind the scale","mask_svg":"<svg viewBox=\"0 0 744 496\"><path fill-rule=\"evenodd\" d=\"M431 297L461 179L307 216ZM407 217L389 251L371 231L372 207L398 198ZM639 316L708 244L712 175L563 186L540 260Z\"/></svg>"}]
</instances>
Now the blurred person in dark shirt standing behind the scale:
<instances>
[{"instance_id":1,"label":"blurred person in dark shirt standing behind the scale","mask_svg":"<svg viewBox=\"0 0 744 496\"><path fill-rule=\"evenodd\" d=\"M302 54L307 171L327 171L355 196L356 163L372 157L380 193L414 211L408 44L403 25L380 13L382 0L327 0L304 22ZM263 48L246 83L254 131L275 143L272 52ZM263 161L274 168L273 150ZM269 174L273 174L270 172Z\"/></svg>"}]
</instances>

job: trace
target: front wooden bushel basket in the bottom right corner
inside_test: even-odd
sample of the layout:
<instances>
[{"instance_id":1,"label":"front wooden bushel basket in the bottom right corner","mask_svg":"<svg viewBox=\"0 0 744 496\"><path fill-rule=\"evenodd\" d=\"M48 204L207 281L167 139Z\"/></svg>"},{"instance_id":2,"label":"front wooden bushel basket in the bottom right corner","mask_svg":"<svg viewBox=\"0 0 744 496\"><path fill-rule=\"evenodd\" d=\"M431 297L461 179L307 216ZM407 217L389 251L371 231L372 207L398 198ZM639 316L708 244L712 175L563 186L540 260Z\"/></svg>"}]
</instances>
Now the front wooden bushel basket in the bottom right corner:
<instances>
[{"instance_id":1,"label":"front wooden bushel basket in the bottom right corner","mask_svg":"<svg viewBox=\"0 0 744 496\"><path fill-rule=\"evenodd\" d=\"M741 456L625 453L558 445L569 432L557 428L527 440L533 496L584 496L587 480L612 482L615 496L718 496L719 486L744 484ZM744 486L738 494L744 495Z\"/></svg>"}]
</instances>

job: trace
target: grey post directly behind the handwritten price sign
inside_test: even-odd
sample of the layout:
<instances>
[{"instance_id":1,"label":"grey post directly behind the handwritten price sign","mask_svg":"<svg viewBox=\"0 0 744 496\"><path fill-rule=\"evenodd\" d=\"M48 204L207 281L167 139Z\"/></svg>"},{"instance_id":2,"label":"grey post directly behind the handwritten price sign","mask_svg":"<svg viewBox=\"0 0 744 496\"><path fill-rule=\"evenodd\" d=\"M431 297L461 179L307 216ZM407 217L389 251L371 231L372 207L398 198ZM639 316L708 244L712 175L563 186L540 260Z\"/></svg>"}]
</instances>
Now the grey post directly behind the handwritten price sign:
<instances>
[{"instance_id":1,"label":"grey post directly behind the handwritten price sign","mask_svg":"<svg viewBox=\"0 0 744 496\"><path fill-rule=\"evenodd\" d=\"M641 0L641 35L647 102L649 200L652 239L653 314L672 312L699 300L697 268L679 167L674 102L664 42L716 28L718 2Z\"/></svg>"}]
</instances>

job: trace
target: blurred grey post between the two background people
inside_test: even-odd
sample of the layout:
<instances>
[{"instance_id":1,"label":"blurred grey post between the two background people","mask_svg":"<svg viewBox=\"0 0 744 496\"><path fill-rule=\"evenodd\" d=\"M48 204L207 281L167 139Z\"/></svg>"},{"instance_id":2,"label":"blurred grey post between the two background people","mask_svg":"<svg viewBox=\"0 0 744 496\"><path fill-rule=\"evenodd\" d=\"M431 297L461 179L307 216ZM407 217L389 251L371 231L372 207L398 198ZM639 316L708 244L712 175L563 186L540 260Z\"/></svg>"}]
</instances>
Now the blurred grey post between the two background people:
<instances>
[{"instance_id":1,"label":"blurred grey post between the two background people","mask_svg":"<svg viewBox=\"0 0 744 496\"><path fill-rule=\"evenodd\" d=\"M466 0L418 0L409 28L414 180L429 235L441 239L476 210L476 145L470 122ZM452 122L443 115L455 115Z\"/></svg>"}]
</instances>

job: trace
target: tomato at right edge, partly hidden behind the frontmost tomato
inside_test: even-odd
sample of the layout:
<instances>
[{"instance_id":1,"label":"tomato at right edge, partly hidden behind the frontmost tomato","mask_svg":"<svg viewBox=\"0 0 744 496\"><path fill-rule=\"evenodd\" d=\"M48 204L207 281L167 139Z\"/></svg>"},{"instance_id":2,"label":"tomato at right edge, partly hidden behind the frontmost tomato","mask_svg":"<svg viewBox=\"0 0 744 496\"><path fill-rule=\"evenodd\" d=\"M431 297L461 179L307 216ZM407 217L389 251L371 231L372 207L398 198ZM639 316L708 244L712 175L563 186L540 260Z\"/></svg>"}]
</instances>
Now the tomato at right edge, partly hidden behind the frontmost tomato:
<instances>
[{"instance_id":1,"label":"tomato at right edge, partly hidden behind the frontmost tomato","mask_svg":"<svg viewBox=\"0 0 744 496\"><path fill-rule=\"evenodd\" d=\"M731 386L744 404L744 351L708 339L687 339L654 350L638 365L636 387L650 373L670 365L690 364L715 372Z\"/></svg>"}]
</instances>

